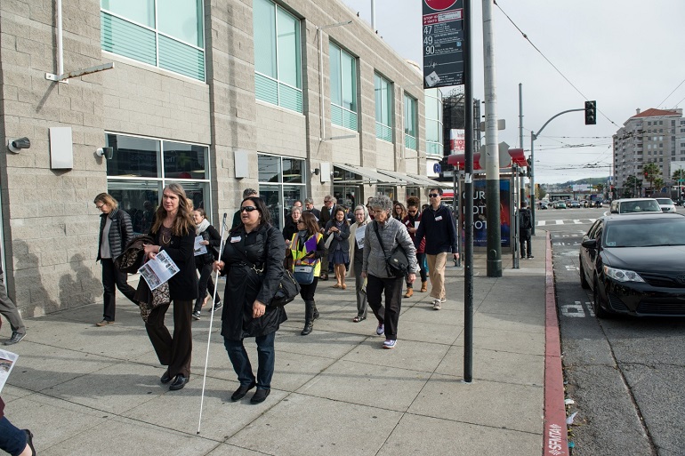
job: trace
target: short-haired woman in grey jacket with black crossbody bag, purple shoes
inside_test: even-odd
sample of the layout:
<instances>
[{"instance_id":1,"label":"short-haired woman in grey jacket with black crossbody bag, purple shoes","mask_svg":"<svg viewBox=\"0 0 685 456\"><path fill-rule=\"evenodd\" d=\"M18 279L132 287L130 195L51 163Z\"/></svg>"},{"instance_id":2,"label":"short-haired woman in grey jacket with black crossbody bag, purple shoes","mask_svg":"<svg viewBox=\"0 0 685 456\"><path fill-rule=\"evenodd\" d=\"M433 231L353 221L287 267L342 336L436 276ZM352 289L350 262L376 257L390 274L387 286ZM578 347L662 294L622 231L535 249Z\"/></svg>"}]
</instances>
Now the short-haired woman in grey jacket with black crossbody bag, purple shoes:
<instances>
[{"instance_id":1,"label":"short-haired woman in grey jacket with black crossbody bag, purple shoes","mask_svg":"<svg viewBox=\"0 0 685 456\"><path fill-rule=\"evenodd\" d=\"M416 250L407 228L401 221L392 218L392 201L388 196L375 196L369 205L375 219L367 224L361 274L362 277L367 277L368 305L378 320L375 333L379 336L385 333L383 348L395 348L404 277L392 276L385 259L390 256L397 245L400 245L409 260L407 278L414 282L416 272L419 270L416 264ZM384 308L381 302L383 293L385 294Z\"/></svg>"}]
</instances>

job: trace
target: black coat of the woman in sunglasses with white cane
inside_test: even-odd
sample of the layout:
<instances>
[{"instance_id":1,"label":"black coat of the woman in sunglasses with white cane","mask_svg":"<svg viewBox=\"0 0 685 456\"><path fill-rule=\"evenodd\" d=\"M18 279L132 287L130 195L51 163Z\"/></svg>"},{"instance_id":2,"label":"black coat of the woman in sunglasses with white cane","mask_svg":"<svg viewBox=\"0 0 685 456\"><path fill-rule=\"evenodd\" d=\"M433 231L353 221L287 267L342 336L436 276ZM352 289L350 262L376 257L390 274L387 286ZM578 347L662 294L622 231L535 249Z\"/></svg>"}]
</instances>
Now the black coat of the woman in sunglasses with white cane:
<instances>
[{"instance_id":1,"label":"black coat of the woman in sunglasses with white cane","mask_svg":"<svg viewBox=\"0 0 685 456\"><path fill-rule=\"evenodd\" d=\"M284 252L283 235L270 225L250 233L243 226L230 231L222 252L222 274L227 275L222 311L224 338L263 336L278 331L278 326L286 321L285 308L269 306L283 277ZM267 306L259 318L252 317L254 300Z\"/></svg>"}]
</instances>

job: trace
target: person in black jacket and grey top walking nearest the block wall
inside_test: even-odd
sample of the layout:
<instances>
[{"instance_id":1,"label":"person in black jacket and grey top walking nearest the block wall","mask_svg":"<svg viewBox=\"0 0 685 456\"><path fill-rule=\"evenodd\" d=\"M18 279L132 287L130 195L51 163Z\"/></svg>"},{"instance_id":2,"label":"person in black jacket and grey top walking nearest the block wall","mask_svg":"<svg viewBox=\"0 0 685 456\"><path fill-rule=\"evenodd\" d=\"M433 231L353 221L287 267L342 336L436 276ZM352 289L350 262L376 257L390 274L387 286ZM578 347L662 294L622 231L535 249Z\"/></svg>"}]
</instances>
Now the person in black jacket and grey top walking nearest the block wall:
<instances>
[{"instance_id":1,"label":"person in black jacket and grey top walking nearest the block wall","mask_svg":"<svg viewBox=\"0 0 685 456\"><path fill-rule=\"evenodd\" d=\"M126 282L125 273L119 272L114 267L114 260L117 260L117 257L124 252L126 244L133 238L133 226L131 217L125 211L119 210L117 200L108 193L95 196L93 203L102 212L96 261L99 260L102 265L102 288L104 289L102 321L95 325L107 326L114 323L117 310L115 285L126 298L137 304L133 300L135 289Z\"/></svg>"}]
</instances>

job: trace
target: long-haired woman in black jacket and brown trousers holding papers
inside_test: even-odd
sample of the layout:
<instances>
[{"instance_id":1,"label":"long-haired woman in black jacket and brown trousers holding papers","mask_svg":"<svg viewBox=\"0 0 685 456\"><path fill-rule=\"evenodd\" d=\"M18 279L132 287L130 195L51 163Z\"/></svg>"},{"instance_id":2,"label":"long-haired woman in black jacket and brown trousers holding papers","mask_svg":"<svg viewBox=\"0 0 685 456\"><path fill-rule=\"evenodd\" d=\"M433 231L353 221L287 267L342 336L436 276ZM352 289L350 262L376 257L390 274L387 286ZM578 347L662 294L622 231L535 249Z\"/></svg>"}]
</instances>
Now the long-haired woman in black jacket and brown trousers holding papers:
<instances>
[{"instance_id":1,"label":"long-haired woman in black jacket and brown trousers holding papers","mask_svg":"<svg viewBox=\"0 0 685 456\"><path fill-rule=\"evenodd\" d=\"M190 378L190 356L193 351L190 332L190 315L193 301L197 299L197 273L193 251L195 246L195 223L191 207L181 185L173 183L165 187L162 204L157 208L155 223L150 236L155 244L145 244L145 256L154 259L165 251L176 263L179 272L169 279L169 295L173 301L173 337L164 324L166 310L171 303L153 308L145 322L152 347L159 363L168 369L159 379L169 383L174 391L183 388Z\"/></svg>"}]
</instances>

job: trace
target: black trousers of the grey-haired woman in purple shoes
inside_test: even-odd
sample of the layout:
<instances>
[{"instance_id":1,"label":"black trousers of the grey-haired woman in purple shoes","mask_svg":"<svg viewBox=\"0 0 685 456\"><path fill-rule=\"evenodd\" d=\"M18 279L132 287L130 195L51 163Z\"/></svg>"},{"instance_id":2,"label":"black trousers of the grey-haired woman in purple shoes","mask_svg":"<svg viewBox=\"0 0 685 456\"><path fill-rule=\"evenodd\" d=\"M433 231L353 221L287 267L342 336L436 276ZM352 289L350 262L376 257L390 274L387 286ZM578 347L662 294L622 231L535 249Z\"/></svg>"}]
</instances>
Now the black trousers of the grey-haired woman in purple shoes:
<instances>
[{"instance_id":1,"label":"black trousers of the grey-haired woman in purple shoes","mask_svg":"<svg viewBox=\"0 0 685 456\"><path fill-rule=\"evenodd\" d=\"M404 277L367 276L368 306L374 311L378 323L385 324L385 339L397 340L403 282ZM382 302L383 294L385 295L385 307L383 307Z\"/></svg>"}]
</instances>

